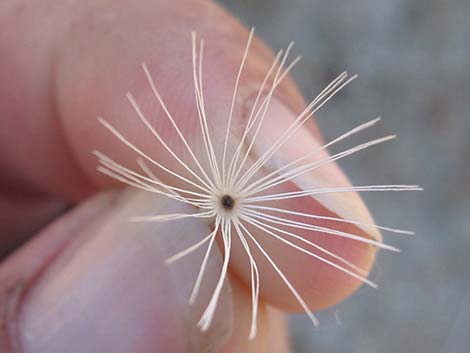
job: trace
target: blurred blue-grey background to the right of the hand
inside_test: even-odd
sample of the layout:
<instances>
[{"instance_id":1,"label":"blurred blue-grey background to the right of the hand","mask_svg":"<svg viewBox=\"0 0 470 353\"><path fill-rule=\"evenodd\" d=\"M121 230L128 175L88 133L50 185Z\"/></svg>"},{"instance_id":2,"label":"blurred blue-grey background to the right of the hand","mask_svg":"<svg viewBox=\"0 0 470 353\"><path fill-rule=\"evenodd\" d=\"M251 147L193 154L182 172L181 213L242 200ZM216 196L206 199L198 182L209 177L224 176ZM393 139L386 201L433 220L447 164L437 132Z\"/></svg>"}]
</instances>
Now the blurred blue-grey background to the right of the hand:
<instances>
[{"instance_id":1,"label":"blurred blue-grey background to the right of the hand","mask_svg":"<svg viewBox=\"0 0 470 353\"><path fill-rule=\"evenodd\" d=\"M380 253L344 303L292 318L296 353L470 352L470 1L219 0L273 49L296 42L294 78L313 98L343 70L360 75L317 114L326 139L382 116L359 143L398 140L340 164L353 183L414 184L423 192L365 193L401 254ZM345 147L345 145L342 145Z\"/></svg>"}]
</instances>

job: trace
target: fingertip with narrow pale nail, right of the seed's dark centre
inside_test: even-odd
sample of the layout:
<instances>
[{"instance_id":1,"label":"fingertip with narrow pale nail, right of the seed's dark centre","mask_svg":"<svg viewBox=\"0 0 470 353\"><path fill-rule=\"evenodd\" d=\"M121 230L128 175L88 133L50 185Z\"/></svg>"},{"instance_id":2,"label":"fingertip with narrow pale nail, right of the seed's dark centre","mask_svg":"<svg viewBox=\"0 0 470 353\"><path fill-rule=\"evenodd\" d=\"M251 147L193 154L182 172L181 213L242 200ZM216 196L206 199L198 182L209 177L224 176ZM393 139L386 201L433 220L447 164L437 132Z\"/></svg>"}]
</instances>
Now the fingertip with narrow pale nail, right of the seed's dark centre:
<instances>
[{"instance_id":1,"label":"fingertip with narrow pale nail, right of the seed's dark centre","mask_svg":"<svg viewBox=\"0 0 470 353\"><path fill-rule=\"evenodd\" d=\"M269 109L275 123L263 126L263 134L250 136L253 160L264 156L296 119L279 100ZM299 158L302 163L291 166ZM380 231L360 196L335 191L351 184L310 130L302 127L293 133L252 181L256 186L247 187L256 196L245 212L255 220L249 229L266 253L256 251L261 296L267 302L285 310L305 310L298 295L318 310L345 299L364 283L375 286L366 278L375 246L388 246L382 246ZM308 190L311 193L305 193ZM249 283L243 248L235 246L234 251L233 266Z\"/></svg>"}]
</instances>

